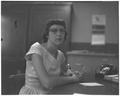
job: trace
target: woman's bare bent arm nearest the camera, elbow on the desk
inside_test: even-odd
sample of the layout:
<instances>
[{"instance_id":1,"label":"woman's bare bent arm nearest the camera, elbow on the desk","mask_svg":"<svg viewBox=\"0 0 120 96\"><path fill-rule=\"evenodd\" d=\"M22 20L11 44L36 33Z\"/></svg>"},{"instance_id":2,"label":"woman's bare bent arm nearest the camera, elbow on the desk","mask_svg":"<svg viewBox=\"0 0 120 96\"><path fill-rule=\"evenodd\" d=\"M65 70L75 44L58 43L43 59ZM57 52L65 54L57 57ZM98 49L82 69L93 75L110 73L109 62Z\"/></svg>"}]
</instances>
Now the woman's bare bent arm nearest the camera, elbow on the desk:
<instances>
[{"instance_id":1,"label":"woman's bare bent arm nearest the camera, elbow on the desk","mask_svg":"<svg viewBox=\"0 0 120 96\"><path fill-rule=\"evenodd\" d=\"M47 73L45 66L43 65L43 58L38 54L32 55L32 62L37 71L39 79L44 87L53 88L67 83L79 81L76 75L73 76L54 76Z\"/></svg>"}]
</instances>

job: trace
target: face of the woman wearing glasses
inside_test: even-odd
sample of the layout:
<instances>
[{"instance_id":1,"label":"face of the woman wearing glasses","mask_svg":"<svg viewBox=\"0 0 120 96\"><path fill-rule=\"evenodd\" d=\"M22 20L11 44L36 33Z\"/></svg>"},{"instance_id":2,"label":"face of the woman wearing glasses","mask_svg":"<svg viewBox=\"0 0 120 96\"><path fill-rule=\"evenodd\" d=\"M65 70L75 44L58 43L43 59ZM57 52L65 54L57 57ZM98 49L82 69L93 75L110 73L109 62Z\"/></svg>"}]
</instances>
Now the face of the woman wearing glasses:
<instances>
[{"instance_id":1,"label":"face of the woman wearing glasses","mask_svg":"<svg viewBox=\"0 0 120 96\"><path fill-rule=\"evenodd\" d=\"M62 25L54 24L49 28L48 40L55 45L60 45L65 39L65 28Z\"/></svg>"}]
</instances>

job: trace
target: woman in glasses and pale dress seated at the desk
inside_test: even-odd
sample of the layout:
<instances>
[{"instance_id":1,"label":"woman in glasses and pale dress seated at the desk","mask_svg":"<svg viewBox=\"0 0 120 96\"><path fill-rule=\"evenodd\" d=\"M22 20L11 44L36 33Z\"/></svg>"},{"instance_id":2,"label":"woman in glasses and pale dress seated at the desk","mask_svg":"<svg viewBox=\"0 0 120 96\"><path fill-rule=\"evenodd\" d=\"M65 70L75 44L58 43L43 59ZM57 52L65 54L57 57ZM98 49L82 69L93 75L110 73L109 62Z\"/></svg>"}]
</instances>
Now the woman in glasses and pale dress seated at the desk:
<instances>
[{"instance_id":1,"label":"woman in glasses and pale dress seated at the desk","mask_svg":"<svg viewBox=\"0 0 120 96\"><path fill-rule=\"evenodd\" d=\"M66 59L58 48L66 40L66 35L63 20L48 22L43 43L34 43L25 55L25 85L19 94L47 94L56 86L81 80L81 75L64 75Z\"/></svg>"}]
</instances>

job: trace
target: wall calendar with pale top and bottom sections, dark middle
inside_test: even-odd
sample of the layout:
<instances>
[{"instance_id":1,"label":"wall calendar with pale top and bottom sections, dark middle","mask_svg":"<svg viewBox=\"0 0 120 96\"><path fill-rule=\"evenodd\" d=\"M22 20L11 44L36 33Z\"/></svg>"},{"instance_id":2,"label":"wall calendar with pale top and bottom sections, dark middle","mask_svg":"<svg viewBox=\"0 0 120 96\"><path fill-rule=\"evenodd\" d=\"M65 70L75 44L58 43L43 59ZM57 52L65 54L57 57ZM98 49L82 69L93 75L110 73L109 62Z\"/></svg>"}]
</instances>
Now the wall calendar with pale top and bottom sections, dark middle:
<instances>
[{"instance_id":1,"label":"wall calendar with pale top and bottom sections, dark middle","mask_svg":"<svg viewBox=\"0 0 120 96\"><path fill-rule=\"evenodd\" d=\"M105 29L106 29L106 16L93 15L92 16L92 45L105 44Z\"/></svg>"}]
</instances>

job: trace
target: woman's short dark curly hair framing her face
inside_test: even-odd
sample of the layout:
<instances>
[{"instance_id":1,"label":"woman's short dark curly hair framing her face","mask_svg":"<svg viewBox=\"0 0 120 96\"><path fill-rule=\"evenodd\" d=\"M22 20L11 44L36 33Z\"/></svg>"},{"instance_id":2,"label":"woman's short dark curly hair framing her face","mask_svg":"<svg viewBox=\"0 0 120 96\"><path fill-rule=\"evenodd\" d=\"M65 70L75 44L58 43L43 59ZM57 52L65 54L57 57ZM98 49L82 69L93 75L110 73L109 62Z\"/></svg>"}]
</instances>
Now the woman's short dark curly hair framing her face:
<instances>
[{"instance_id":1,"label":"woman's short dark curly hair framing her face","mask_svg":"<svg viewBox=\"0 0 120 96\"><path fill-rule=\"evenodd\" d=\"M47 25L46 25L46 30L43 33L43 42L44 43L48 41L49 29L54 24L62 25L66 29L66 24L65 24L64 20L62 20L62 19L52 19L52 20L49 20ZM66 40L66 36L67 36L67 32L65 31L65 40Z\"/></svg>"}]
</instances>

